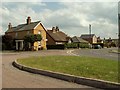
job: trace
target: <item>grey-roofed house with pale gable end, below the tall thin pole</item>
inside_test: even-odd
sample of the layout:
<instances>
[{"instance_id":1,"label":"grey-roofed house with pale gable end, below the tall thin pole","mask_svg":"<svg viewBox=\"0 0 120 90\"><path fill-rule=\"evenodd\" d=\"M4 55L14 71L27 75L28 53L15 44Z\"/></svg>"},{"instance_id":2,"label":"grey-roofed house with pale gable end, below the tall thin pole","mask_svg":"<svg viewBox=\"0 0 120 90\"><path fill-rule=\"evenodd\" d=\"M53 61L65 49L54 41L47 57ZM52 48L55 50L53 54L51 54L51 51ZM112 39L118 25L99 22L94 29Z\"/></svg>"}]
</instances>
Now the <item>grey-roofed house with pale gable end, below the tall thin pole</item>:
<instances>
[{"instance_id":1,"label":"grey-roofed house with pale gable end, below the tall thin pole","mask_svg":"<svg viewBox=\"0 0 120 90\"><path fill-rule=\"evenodd\" d=\"M95 34L83 34L80 36L80 38L88 41L90 44L97 43L97 37Z\"/></svg>"}]
</instances>

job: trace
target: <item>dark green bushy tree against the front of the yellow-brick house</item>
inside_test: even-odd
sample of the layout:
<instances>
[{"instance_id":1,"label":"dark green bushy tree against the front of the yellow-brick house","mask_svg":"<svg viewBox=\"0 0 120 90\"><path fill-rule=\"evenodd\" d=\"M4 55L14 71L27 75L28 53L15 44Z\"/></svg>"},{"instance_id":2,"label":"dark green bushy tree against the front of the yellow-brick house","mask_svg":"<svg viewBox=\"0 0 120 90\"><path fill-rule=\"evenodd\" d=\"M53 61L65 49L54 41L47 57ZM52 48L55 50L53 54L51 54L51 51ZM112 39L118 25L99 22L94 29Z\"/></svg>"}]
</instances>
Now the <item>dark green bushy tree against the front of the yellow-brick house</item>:
<instances>
[{"instance_id":1,"label":"dark green bushy tree against the front of the yellow-brick house","mask_svg":"<svg viewBox=\"0 0 120 90\"><path fill-rule=\"evenodd\" d=\"M34 42L36 41L41 41L42 40L42 36L40 34L32 34L32 35L26 35L24 37L24 42L25 42L25 49L28 50L29 48L29 43L31 44L31 46L33 46Z\"/></svg>"}]
</instances>

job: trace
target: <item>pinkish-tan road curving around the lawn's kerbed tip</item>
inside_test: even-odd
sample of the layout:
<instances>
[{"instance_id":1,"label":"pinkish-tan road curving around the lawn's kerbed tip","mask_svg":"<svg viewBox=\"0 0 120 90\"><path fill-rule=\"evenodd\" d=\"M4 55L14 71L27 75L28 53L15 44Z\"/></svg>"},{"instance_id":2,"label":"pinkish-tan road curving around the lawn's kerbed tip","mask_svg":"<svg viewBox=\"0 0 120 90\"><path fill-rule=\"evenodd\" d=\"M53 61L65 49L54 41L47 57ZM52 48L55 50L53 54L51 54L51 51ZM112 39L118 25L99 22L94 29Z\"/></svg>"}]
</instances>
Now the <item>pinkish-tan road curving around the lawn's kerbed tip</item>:
<instances>
[{"instance_id":1,"label":"pinkish-tan road curving around the lawn's kerbed tip","mask_svg":"<svg viewBox=\"0 0 120 90\"><path fill-rule=\"evenodd\" d=\"M18 58L45 55L67 55L66 50L43 50L38 52L3 53L2 88L93 88L43 75L21 71L12 66Z\"/></svg>"}]
</instances>

